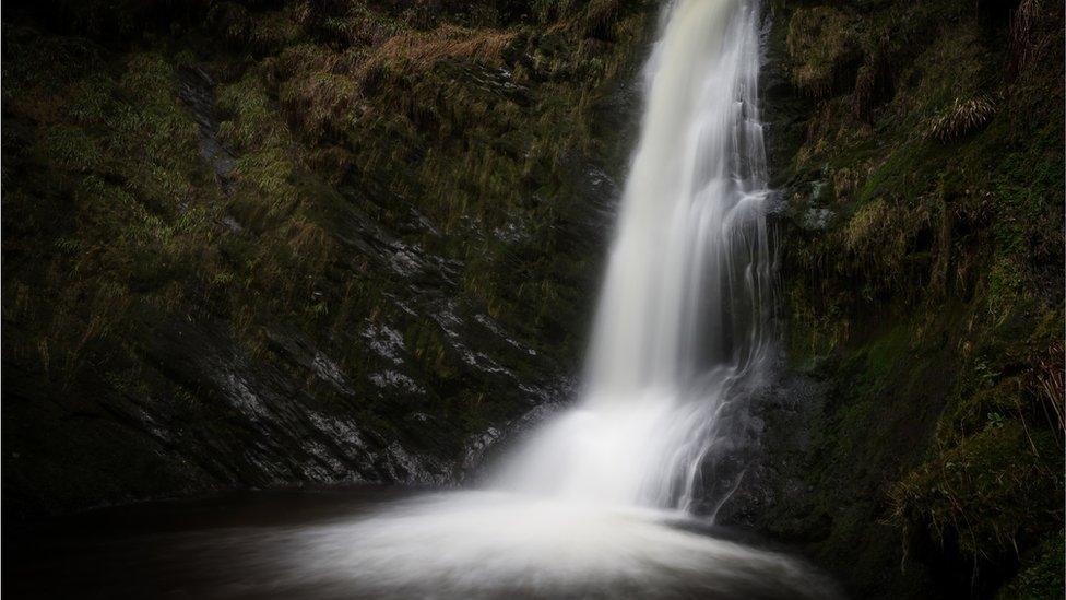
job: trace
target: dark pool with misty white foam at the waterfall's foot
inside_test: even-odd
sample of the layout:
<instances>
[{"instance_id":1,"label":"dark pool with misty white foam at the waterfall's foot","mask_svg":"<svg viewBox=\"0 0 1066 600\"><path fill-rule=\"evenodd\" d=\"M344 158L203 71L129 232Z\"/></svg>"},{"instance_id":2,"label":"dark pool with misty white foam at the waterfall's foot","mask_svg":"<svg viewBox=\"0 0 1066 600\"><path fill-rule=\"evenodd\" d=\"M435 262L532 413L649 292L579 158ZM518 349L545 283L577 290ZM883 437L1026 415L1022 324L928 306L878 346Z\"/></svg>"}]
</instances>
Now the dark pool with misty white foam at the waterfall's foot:
<instances>
[{"instance_id":1,"label":"dark pool with misty white foam at the waterfall's foot","mask_svg":"<svg viewBox=\"0 0 1066 600\"><path fill-rule=\"evenodd\" d=\"M831 598L696 521L488 492L257 492L3 531L17 598Z\"/></svg>"}]
</instances>

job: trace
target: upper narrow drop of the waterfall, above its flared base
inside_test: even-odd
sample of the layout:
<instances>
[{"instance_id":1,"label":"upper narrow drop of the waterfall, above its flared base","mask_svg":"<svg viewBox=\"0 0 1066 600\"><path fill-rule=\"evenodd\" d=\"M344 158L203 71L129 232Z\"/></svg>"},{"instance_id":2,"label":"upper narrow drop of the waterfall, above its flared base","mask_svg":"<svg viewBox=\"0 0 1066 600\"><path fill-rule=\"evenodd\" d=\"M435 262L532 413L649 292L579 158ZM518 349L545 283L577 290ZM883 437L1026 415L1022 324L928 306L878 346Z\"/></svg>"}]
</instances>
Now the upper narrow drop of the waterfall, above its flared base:
<instances>
[{"instance_id":1,"label":"upper narrow drop of the waterfall, above its flared base","mask_svg":"<svg viewBox=\"0 0 1066 600\"><path fill-rule=\"evenodd\" d=\"M756 17L754 4L703 0L667 22L596 322L593 399L684 389L765 342Z\"/></svg>"}]
</instances>

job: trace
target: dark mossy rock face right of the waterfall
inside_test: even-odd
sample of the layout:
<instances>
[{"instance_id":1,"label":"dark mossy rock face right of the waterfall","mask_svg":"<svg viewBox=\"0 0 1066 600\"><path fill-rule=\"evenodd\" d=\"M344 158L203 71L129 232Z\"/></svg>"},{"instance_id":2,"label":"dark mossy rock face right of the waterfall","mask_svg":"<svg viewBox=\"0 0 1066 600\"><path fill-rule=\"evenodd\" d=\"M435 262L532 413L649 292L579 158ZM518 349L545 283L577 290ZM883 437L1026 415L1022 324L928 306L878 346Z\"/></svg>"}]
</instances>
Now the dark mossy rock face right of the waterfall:
<instances>
[{"instance_id":1,"label":"dark mossy rock face right of the waterfall","mask_svg":"<svg viewBox=\"0 0 1066 600\"><path fill-rule=\"evenodd\" d=\"M1056 597L1062 7L766 10L785 357L718 520L857 598Z\"/></svg>"}]
</instances>

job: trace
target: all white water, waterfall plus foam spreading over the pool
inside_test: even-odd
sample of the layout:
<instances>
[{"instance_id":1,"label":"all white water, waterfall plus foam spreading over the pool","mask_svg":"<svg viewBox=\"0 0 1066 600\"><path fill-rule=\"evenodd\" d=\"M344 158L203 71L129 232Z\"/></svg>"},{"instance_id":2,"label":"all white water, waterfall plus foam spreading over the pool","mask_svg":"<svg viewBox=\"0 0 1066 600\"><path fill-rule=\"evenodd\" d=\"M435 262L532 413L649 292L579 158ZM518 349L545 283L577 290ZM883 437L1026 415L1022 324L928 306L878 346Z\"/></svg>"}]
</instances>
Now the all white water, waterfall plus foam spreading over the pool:
<instances>
[{"instance_id":1,"label":"all white water, waterfall plus foam spreading over the pool","mask_svg":"<svg viewBox=\"0 0 1066 600\"><path fill-rule=\"evenodd\" d=\"M758 16L758 0L665 11L581 402L506 461L497 491L279 534L298 549L286 580L386 597L834 597L687 516L773 339Z\"/></svg>"}]
</instances>

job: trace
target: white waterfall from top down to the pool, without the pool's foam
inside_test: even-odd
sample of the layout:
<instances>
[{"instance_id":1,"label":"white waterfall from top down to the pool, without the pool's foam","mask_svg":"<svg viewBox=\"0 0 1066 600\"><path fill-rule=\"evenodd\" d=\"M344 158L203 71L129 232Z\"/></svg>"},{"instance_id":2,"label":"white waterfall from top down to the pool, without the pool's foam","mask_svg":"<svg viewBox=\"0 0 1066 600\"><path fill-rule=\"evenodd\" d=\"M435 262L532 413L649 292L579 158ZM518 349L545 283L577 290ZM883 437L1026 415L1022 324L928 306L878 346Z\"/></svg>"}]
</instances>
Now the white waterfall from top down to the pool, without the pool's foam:
<instances>
[{"instance_id":1,"label":"white waterfall from top down to the pool, without the pool's foam","mask_svg":"<svg viewBox=\"0 0 1066 600\"><path fill-rule=\"evenodd\" d=\"M582 401L504 487L689 508L738 387L769 361L772 255L757 2L679 0L645 69Z\"/></svg>"}]
</instances>

